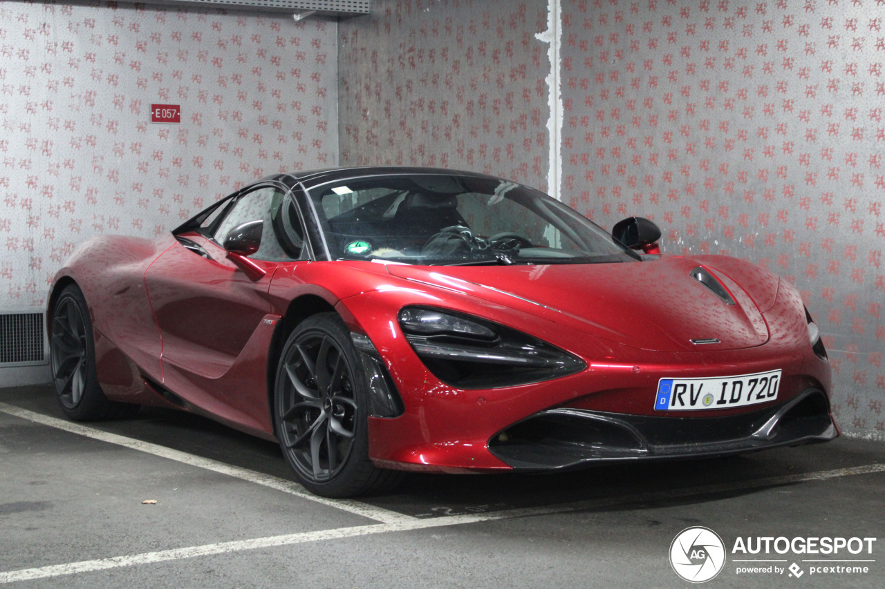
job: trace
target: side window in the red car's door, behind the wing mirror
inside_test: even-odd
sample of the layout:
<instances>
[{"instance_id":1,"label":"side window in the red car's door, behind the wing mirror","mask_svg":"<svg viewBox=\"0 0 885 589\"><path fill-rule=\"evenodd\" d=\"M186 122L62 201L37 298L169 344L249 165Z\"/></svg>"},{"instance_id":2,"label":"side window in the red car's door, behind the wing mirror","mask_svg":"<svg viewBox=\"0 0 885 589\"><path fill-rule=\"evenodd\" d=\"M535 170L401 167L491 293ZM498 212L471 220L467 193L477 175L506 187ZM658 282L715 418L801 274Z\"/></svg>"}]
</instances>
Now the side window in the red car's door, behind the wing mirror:
<instances>
[{"instance_id":1,"label":"side window in the red car's door, behind the wing mirror","mask_svg":"<svg viewBox=\"0 0 885 589\"><path fill-rule=\"evenodd\" d=\"M250 257L259 260L297 260L304 246L295 205L277 187L263 187L240 196L213 236L219 244L235 226L261 219L261 246Z\"/></svg>"}]
</instances>

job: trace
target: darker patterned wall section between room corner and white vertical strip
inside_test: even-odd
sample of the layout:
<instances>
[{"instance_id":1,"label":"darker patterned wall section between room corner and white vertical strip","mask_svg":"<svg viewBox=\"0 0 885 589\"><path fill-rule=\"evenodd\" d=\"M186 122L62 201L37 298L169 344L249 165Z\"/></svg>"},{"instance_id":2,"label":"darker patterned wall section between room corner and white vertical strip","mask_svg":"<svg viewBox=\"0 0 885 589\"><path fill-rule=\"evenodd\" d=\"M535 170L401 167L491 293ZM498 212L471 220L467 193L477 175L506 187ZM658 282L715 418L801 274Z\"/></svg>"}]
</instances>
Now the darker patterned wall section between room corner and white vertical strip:
<instances>
[{"instance_id":1,"label":"darker patterned wall section between room corner and white vertical strip","mask_svg":"<svg viewBox=\"0 0 885 589\"><path fill-rule=\"evenodd\" d=\"M546 2L375 0L342 21L342 164L432 165L546 188Z\"/></svg>"}]
</instances>

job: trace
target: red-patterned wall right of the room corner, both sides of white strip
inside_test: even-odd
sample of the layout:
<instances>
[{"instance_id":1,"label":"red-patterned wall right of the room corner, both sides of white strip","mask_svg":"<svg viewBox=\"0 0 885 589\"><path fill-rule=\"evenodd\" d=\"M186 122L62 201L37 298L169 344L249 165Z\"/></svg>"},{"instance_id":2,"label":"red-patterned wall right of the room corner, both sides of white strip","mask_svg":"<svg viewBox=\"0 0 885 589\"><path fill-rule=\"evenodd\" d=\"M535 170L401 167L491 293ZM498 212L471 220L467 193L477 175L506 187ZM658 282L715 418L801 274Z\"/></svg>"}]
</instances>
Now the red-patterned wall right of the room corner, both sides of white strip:
<instances>
[{"instance_id":1,"label":"red-patterned wall right of the room corner, both sides of white strip","mask_svg":"<svg viewBox=\"0 0 885 589\"><path fill-rule=\"evenodd\" d=\"M375 4L341 26L342 162L546 187L535 34L557 3ZM652 218L666 251L744 257L797 284L840 425L885 438L885 0L558 4L563 200L606 227Z\"/></svg>"}]
</instances>

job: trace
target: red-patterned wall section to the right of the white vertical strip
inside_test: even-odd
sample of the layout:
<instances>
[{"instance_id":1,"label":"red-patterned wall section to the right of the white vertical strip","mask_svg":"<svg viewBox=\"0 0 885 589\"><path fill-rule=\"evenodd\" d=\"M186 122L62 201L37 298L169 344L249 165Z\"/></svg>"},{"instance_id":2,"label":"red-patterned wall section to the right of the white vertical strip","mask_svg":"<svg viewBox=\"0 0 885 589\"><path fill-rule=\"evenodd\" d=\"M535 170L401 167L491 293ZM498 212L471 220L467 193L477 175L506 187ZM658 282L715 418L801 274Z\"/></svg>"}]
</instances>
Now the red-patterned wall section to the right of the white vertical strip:
<instances>
[{"instance_id":1,"label":"red-patterned wall section to the right of the white vertical strip","mask_svg":"<svg viewBox=\"0 0 885 589\"><path fill-rule=\"evenodd\" d=\"M885 0L563 3L563 194L801 289L850 432L885 433Z\"/></svg>"}]
</instances>

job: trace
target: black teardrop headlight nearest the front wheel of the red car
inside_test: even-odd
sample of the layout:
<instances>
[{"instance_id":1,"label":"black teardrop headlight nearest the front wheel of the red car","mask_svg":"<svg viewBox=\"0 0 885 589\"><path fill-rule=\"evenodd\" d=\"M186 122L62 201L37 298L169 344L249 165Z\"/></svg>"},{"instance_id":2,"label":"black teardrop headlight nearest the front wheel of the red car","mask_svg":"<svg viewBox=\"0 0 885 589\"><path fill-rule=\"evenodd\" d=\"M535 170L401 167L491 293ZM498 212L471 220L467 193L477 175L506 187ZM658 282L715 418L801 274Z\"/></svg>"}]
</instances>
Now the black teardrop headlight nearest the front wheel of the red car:
<instances>
[{"instance_id":1,"label":"black teardrop headlight nearest the front wheel of the red car","mask_svg":"<svg viewBox=\"0 0 885 589\"><path fill-rule=\"evenodd\" d=\"M452 386L526 385L586 367L546 341L450 310L405 307L399 325L427 370Z\"/></svg>"}]
</instances>

